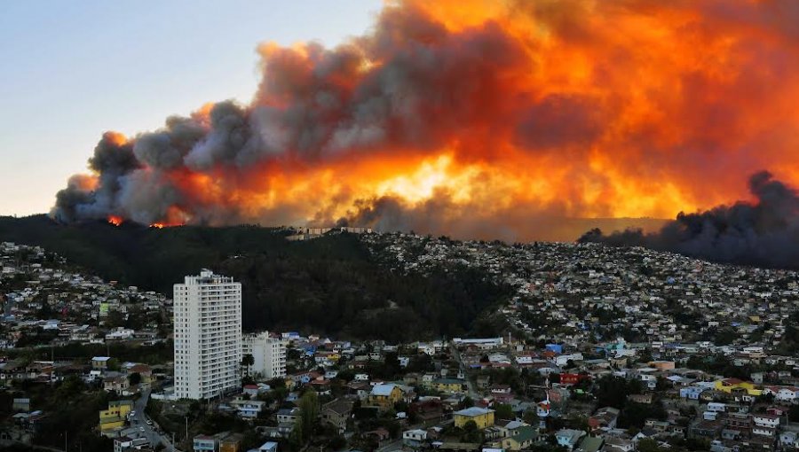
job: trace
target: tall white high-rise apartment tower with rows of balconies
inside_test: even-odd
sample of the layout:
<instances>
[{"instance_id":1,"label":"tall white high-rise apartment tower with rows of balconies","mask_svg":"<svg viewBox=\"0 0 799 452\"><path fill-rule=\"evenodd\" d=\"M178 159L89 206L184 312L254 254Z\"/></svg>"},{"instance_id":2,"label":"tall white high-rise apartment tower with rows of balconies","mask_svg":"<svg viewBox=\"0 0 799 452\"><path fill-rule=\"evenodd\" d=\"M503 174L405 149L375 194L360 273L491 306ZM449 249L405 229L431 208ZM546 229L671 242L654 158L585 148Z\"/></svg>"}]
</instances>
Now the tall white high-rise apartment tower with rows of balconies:
<instances>
[{"instance_id":1,"label":"tall white high-rise apartment tower with rows of balconies","mask_svg":"<svg viewBox=\"0 0 799 452\"><path fill-rule=\"evenodd\" d=\"M241 283L203 269L174 287L175 395L210 399L241 386Z\"/></svg>"}]
</instances>

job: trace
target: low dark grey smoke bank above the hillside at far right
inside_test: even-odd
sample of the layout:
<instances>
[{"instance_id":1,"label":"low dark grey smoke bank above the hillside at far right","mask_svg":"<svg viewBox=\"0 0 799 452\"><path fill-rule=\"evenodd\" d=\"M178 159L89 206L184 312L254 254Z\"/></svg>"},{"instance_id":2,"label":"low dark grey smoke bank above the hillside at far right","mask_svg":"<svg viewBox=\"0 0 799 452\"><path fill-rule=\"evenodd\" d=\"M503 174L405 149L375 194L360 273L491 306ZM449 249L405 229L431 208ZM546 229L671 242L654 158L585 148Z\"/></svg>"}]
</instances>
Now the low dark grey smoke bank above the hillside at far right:
<instances>
[{"instance_id":1,"label":"low dark grey smoke bank above the hillside at far right","mask_svg":"<svg viewBox=\"0 0 799 452\"><path fill-rule=\"evenodd\" d=\"M579 242L645 246L710 261L799 268L799 194L762 171L749 178L755 202L740 201L695 214L680 213L660 231L589 230Z\"/></svg>"}]
</instances>

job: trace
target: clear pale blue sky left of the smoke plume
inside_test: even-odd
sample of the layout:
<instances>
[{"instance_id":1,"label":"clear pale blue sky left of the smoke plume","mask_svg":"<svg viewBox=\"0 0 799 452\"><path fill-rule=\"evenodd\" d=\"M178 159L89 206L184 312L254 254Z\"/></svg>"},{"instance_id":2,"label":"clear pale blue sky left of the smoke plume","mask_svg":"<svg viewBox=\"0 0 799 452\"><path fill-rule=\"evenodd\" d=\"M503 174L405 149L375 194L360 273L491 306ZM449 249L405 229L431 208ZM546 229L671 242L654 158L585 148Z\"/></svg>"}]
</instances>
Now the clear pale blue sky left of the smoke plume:
<instances>
[{"instance_id":1,"label":"clear pale blue sky left of the smoke plume","mask_svg":"<svg viewBox=\"0 0 799 452\"><path fill-rule=\"evenodd\" d=\"M47 212L106 130L135 135L210 101L249 102L258 43L335 46L379 0L4 2L0 214Z\"/></svg>"}]
</instances>

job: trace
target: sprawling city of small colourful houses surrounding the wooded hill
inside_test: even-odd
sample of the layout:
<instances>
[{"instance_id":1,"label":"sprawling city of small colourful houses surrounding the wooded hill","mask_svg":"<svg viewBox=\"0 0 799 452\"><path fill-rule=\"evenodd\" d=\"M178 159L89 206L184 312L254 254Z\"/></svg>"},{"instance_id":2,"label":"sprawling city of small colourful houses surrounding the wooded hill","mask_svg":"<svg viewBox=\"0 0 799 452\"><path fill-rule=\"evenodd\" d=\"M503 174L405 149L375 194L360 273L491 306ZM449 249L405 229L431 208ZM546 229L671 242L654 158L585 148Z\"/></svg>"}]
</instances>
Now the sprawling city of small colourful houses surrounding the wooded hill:
<instances>
[{"instance_id":1,"label":"sprawling city of small colourful houses surrounding the wooded hill","mask_svg":"<svg viewBox=\"0 0 799 452\"><path fill-rule=\"evenodd\" d=\"M471 271L507 296L462 337L244 331L246 288L233 277L202 269L164 295L5 242L0 444L115 452L799 447L793 271L597 244L358 229L289 239L336 234L357 237L392 272Z\"/></svg>"}]
</instances>

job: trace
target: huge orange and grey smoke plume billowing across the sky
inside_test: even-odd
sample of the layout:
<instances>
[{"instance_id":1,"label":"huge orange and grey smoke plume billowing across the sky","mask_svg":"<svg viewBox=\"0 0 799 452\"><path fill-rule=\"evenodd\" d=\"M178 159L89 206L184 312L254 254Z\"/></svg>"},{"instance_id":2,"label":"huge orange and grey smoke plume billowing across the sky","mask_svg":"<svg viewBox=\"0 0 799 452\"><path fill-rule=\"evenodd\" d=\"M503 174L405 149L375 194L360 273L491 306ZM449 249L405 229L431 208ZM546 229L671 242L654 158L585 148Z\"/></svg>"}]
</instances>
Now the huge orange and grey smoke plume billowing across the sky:
<instances>
[{"instance_id":1,"label":"huge orange and grey smoke plume billowing across the sky","mask_svg":"<svg viewBox=\"0 0 799 452\"><path fill-rule=\"evenodd\" d=\"M394 0L336 48L264 43L248 105L107 132L63 222L566 238L799 182L793 0Z\"/></svg>"}]
</instances>

